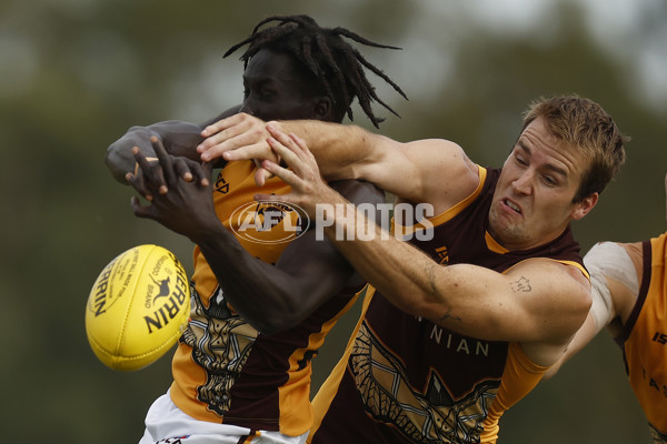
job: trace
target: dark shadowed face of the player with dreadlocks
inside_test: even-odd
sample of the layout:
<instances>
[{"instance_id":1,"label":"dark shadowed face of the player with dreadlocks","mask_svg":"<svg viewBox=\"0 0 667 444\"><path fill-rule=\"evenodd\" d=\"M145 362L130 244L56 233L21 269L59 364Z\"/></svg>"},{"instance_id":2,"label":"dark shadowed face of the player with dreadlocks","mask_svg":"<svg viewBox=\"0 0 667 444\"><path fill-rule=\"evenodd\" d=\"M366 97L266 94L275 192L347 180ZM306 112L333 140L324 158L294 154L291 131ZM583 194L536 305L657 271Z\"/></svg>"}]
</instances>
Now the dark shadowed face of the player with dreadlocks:
<instances>
[{"instance_id":1,"label":"dark shadowed face of the player with dreadlocks","mask_svg":"<svg viewBox=\"0 0 667 444\"><path fill-rule=\"evenodd\" d=\"M243 72L241 111L265 121L315 119L311 83L291 56L262 49Z\"/></svg>"}]
</instances>

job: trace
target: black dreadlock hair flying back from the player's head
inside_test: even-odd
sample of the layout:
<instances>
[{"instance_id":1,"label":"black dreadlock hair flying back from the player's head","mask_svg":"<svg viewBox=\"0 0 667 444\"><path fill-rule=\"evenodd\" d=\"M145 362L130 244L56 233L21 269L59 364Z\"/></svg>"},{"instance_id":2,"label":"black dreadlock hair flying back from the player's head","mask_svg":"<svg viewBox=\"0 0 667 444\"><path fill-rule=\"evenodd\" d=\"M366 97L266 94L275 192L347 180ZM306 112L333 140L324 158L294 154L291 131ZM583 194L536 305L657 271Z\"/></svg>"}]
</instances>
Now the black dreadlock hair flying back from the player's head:
<instances>
[{"instance_id":1,"label":"black dreadlock hair flying back from the player's head","mask_svg":"<svg viewBox=\"0 0 667 444\"><path fill-rule=\"evenodd\" d=\"M259 30L263 24L272 21L279 23ZM223 57L231 54L245 44L249 44L246 52L240 57L240 60L243 61L243 69L246 69L248 61L261 49L270 48L288 52L307 67L322 83L325 93L334 101L336 112L341 120L346 112L349 119L352 120L350 105L354 98L357 97L366 115L378 128L378 123L385 119L377 118L374 114L370 102L377 101L392 114L397 117L398 114L377 97L375 88L366 78L364 67L382 78L406 100L407 97L387 74L369 63L342 37L369 47L400 49L371 42L344 28L321 28L309 16L275 16L260 21L249 38L231 47Z\"/></svg>"}]
</instances>

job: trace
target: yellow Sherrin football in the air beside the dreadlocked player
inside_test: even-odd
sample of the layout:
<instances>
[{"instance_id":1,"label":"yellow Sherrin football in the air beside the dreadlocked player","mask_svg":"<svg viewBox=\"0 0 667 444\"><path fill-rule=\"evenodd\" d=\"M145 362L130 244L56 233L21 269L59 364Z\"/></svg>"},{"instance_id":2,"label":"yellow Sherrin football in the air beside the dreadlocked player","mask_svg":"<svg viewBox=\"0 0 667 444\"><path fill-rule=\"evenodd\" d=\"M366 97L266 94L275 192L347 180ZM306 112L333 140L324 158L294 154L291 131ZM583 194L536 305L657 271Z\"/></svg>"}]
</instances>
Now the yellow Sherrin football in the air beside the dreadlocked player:
<instances>
[{"instance_id":1,"label":"yellow Sherrin football in the air beside the dreadlocked player","mask_svg":"<svg viewBox=\"0 0 667 444\"><path fill-rule=\"evenodd\" d=\"M94 281L86 333L97 357L119 371L142 369L178 341L190 315L190 287L179 260L152 244L113 259Z\"/></svg>"}]
</instances>

